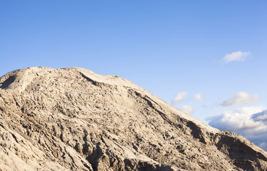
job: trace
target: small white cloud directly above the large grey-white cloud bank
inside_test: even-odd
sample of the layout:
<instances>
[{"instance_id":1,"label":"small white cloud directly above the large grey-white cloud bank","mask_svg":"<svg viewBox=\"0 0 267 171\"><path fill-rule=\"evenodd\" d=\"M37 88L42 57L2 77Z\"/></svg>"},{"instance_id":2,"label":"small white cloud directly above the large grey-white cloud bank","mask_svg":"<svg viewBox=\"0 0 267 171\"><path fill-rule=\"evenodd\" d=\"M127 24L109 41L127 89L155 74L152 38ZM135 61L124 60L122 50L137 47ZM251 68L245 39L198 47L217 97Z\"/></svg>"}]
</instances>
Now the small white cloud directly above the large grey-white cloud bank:
<instances>
[{"instance_id":1,"label":"small white cloud directly above the large grey-white cloud bank","mask_svg":"<svg viewBox=\"0 0 267 171\"><path fill-rule=\"evenodd\" d=\"M240 91L236 94L231 99L225 100L222 102L220 105L221 106L233 106L233 105L243 105L243 104L248 104L248 103L253 103L258 100L258 95L250 95L249 93Z\"/></svg>"}]
</instances>

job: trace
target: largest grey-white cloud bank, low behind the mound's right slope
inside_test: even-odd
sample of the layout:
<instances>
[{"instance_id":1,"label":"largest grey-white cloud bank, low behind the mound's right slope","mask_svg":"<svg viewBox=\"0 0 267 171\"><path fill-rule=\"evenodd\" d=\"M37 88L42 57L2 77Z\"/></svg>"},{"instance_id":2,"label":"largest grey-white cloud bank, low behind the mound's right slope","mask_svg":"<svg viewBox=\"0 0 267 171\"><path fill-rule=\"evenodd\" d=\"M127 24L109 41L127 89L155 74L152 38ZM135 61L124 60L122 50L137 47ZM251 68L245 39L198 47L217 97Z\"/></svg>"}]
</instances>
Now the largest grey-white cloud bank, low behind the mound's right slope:
<instances>
[{"instance_id":1,"label":"largest grey-white cloud bank, low behind the mound's right slope","mask_svg":"<svg viewBox=\"0 0 267 171\"><path fill-rule=\"evenodd\" d=\"M208 124L245 136L267 151L267 110L265 107L242 107L207 118Z\"/></svg>"}]
</instances>

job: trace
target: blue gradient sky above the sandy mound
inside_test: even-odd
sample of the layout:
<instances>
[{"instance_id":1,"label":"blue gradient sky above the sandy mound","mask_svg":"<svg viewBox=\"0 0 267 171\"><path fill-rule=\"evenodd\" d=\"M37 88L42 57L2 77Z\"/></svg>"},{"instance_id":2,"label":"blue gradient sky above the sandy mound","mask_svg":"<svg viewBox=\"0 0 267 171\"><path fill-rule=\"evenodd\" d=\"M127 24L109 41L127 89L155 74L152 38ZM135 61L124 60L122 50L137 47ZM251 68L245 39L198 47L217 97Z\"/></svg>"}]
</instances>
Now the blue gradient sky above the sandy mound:
<instances>
[{"instance_id":1,"label":"blue gradient sky above the sandy mound","mask_svg":"<svg viewBox=\"0 0 267 171\"><path fill-rule=\"evenodd\" d=\"M1 0L0 75L79 66L131 80L214 127L236 131L232 112L267 128L252 117L267 108L266 8L266 0ZM267 149L245 122L238 133Z\"/></svg>"}]
</instances>

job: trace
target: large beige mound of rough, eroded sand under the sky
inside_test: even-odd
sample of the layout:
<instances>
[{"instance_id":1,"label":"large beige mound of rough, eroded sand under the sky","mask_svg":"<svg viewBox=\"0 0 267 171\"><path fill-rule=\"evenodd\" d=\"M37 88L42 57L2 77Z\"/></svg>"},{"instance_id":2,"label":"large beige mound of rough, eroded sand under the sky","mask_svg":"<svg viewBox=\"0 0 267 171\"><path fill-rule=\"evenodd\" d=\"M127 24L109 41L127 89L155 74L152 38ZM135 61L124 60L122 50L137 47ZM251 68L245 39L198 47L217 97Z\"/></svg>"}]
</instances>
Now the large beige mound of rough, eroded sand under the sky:
<instances>
[{"instance_id":1,"label":"large beige mound of rough, eroded sand under the sky","mask_svg":"<svg viewBox=\"0 0 267 171\"><path fill-rule=\"evenodd\" d=\"M118 76L45 67L2 76L0 171L71 170L266 171L267 152Z\"/></svg>"}]
</instances>

